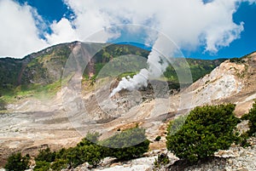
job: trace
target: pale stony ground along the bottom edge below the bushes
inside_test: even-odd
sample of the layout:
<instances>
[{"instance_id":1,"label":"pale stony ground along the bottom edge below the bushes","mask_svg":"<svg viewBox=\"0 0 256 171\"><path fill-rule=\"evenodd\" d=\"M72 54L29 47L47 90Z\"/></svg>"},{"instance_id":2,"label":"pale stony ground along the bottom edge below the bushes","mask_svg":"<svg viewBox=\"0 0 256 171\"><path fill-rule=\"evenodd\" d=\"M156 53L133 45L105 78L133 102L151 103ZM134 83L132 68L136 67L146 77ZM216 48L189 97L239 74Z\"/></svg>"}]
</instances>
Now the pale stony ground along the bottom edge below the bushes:
<instances>
[{"instance_id":1,"label":"pale stony ground along the bottom edge below the bushes","mask_svg":"<svg viewBox=\"0 0 256 171\"><path fill-rule=\"evenodd\" d=\"M189 166L186 163L179 161L166 149L150 151L144 154L144 157L137 158L127 162L115 162L115 158L107 157L100 163L99 167L91 168L90 164L85 162L77 168L62 169L62 171L141 171L141 170L194 170L194 171L255 171L256 170L256 139L251 139L252 146L242 148L240 146L233 145L230 150L218 151L214 157L207 159L206 161L200 161L193 166ZM169 163L157 167L155 161L157 161L160 155L167 155ZM4 170L4 169L3 169ZM0 170L0 171L3 171ZM32 171L28 169L27 171Z\"/></svg>"}]
</instances>

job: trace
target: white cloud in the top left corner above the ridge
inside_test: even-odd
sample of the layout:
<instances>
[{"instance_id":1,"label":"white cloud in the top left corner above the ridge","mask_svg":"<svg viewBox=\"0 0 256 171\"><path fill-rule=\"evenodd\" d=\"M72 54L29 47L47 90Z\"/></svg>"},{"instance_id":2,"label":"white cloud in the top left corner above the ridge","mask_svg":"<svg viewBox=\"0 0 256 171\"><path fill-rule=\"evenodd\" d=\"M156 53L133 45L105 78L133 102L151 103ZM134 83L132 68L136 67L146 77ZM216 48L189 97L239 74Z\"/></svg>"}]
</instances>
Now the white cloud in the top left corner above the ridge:
<instances>
[{"instance_id":1,"label":"white cloud in the top left corner above the ridge","mask_svg":"<svg viewBox=\"0 0 256 171\"><path fill-rule=\"evenodd\" d=\"M40 20L30 6L0 0L0 56L24 57L46 47L38 38Z\"/></svg>"}]
</instances>

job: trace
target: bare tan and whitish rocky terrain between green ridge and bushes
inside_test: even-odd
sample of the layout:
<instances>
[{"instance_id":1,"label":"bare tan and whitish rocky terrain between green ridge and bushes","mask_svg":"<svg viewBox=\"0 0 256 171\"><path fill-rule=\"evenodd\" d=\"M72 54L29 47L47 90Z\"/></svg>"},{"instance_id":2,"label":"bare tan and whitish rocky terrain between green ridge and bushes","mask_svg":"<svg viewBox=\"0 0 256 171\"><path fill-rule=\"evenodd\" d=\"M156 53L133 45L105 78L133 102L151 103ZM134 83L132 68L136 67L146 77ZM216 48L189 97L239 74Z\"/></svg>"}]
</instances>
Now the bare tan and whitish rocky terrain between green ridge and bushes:
<instances>
[{"instance_id":1,"label":"bare tan and whitish rocky terrain between green ridge and bushes","mask_svg":"<svg viewBox=\"0 0 256 171\"><path fill-rule=\"evenodd\" d=\"M256 53L250 54L242 62L226 60L188 88L166 97L152 97L152 90L146 89L121 91L109 98L111 88L103 86L90 88L78 97L65 96L68 88L63 87L51 99L27 97L17 100L8 105L7 111L0 114L0 166L3 166L6 158L14 151L30 153L33 156L45 145L52 149L72 146L90 131L102 133L103 139L119 128L134 127L135 124L146 128L148 139L153 141L151 150L165 148L166 123L197 105L235 103L236 115L241 117L256 99L255 80ZM72 111L85 111L70 114L68 107ZM157 135L162 136L160 142L154 141ZM247 153L238 156L247 157ZM138 159L137 162L143 162L141 160ZM154 162L153 158L151 160ZM247 167L247 162L241 163L245 163L242 167Z\"/></svg>"}]
</instances>

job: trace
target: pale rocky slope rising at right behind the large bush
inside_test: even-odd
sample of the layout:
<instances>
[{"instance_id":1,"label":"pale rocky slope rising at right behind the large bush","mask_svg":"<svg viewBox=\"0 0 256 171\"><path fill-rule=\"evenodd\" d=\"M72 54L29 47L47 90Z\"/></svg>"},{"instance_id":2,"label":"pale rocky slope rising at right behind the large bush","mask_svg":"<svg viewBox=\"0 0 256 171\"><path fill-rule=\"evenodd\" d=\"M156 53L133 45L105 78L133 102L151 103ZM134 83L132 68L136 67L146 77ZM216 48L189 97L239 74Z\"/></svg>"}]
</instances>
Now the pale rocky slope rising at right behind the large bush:
<instances>
[{"instance_id":1,"label":"pale rocky slope rising at right behind the large bush","mask_svg":"<svg viewBox=\"0 0 256 171\"><path fill-rule=\"evenodd\" d=\"M225 60L210 74L201 77L184 90L191 97L189 105L183 108L204 104L236 104L236 114L241 116L256 99L256 53L239 59ZM186 98L184 98L186 101Z\"/></svg>"}]
</instances>

